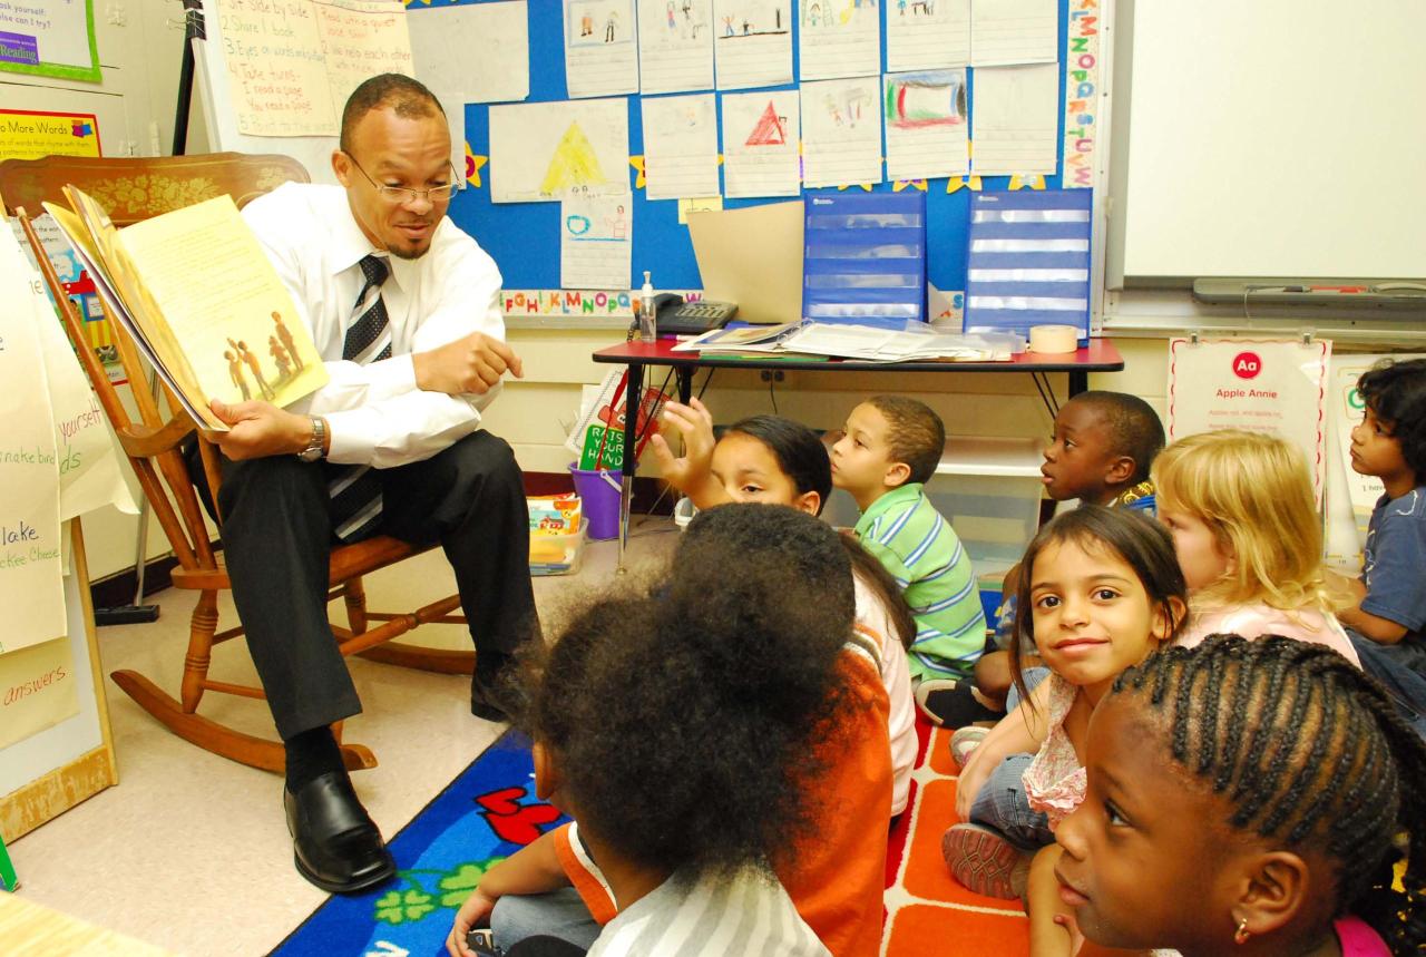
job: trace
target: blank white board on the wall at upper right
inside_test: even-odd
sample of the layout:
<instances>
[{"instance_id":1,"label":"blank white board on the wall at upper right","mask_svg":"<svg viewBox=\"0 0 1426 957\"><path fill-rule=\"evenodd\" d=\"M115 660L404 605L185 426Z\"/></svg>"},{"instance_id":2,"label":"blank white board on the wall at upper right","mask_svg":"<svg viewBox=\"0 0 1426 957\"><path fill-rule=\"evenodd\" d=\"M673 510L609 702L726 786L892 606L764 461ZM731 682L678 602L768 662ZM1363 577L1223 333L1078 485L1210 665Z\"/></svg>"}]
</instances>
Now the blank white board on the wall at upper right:
<instances>
[{"instance_id":1,"label":"blank white board on the wall at upper right","mask_svg":"<svg viewBox=\"0 0 1426 957\"><path fill-rule=\"evenodd\" d=\"M1122 0L1117 17L1111 288L1426 277L1426 3Z\"/></svg>"}]
</instances>

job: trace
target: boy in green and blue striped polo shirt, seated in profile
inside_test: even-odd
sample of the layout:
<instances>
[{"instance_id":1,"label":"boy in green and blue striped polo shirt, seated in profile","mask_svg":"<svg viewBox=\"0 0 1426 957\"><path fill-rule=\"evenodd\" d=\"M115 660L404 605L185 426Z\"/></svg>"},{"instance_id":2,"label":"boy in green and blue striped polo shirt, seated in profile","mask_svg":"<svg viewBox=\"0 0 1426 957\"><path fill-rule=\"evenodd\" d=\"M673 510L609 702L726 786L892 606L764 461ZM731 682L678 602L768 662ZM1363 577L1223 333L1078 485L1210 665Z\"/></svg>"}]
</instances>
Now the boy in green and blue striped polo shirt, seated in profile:
<instances>
[{"instance_id":1,"label":"boy in green and blue striped polo shirt, seated in profile","mask_svg":"<svg viewBox=\"0 0 1426 957\"><path fill-rule=\"evenodd\" d=\"M851 411L831 449L831 482L861 509L857 538L901 586L915 618L907 655L917 687L968 680L985 649L971 559L923 491L944 446L945 426L935 412L915 399L878 395ZM924 709L925 696L915 697Z\"/></svg>"}]
</instances>

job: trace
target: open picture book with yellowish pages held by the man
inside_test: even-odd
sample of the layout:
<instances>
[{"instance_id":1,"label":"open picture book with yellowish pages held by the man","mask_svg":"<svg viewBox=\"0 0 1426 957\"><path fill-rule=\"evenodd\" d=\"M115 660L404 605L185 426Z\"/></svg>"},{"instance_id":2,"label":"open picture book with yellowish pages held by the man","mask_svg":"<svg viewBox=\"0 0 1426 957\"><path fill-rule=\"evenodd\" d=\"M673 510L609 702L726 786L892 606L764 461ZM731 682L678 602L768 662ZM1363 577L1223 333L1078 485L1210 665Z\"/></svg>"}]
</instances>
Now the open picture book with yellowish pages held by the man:
<instances>
[{"instance_id":1,"label":"open picture book with yellowish pages held by the man","mask_svg":"<svg viewBox=\"0 0 1426 957\"><path fill-rule=\"evenodd\" d=\"M76 187L46 203L104 308L202 428L210 402L284 406L327 384L307 324L232 198L222 195L118 230Z\"/></svg>"}]
</instances>

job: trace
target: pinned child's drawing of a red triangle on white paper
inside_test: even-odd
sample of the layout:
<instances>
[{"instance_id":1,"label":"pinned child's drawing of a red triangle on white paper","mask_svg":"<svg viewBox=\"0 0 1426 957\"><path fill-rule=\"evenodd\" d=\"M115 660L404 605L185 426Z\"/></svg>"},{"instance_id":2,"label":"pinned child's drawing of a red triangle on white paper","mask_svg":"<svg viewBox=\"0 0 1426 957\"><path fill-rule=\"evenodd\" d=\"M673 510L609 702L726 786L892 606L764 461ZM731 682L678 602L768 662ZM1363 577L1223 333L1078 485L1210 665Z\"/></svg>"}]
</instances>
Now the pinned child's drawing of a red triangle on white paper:
<instances>
[{"instance_id":1,"label":"pinned child's drawing of a red triangle on white paper","mask_svg":"<svg viewBox=\"0 0 1426 957\"><path fill-rule=\"evenodd\" d=\"M723 175L729 197L801 191L800 106L796 90L723 97Z\"/></svg>"}]
</instances>

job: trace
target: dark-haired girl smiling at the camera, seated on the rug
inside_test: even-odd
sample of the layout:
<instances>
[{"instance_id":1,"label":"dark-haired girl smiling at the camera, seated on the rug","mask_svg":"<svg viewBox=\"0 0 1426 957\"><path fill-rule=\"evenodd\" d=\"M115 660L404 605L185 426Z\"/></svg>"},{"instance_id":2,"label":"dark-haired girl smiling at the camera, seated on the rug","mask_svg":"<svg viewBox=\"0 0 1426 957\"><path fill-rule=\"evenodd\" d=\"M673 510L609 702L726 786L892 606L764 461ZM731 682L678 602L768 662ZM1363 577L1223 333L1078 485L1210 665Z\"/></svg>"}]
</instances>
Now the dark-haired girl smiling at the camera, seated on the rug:
<instances>
[{"instance_id":1,"label":"dark-haired girl smiling at the camera, seated on the rug","mask_svg":"<svg viewBox=\"0 0 1426 957\"><path fill-rule=\"evenodd\" d=\"M1024 897L1031 954L1068 956L1065 906L1054 880L1054 827L1084 799L1089 716L1114 679L1174 638L1184 576L1168 532L1125 509L1084 505L1045 525L1025 551L1015 630L1034 639L1050 669L1032 697L1011 643L1015 686L1027 702L991 729L957 782L968 823L941 847L955 879L991 897Z\"/></svg>"}]
</instances>

